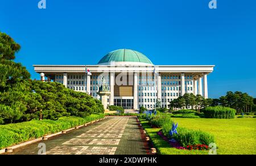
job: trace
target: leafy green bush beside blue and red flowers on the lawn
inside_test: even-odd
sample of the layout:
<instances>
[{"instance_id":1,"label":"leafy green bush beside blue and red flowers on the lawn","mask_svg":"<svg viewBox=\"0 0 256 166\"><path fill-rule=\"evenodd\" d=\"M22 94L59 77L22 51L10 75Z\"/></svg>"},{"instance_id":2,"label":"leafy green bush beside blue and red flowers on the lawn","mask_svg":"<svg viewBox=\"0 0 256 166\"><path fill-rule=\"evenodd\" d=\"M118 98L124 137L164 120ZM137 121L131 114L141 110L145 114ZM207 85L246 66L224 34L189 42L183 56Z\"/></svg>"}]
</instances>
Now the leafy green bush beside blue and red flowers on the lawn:
<instances>
[{"instance_id":1,"label":"leafy green bush beside blue and red flowers on the lawn","mask_svg":"<svg viewBox=\"0 0 256 166\"><path fill-rule=\"evenodd\" d=\"M172 124L165 124L163 126L163 134L168 138L174 138L177 142L180 143L181 146L195 146L197 144L205 144L209 145L210 143L214 143L214 136L208 134L207 132L203 132L200 130L190 130L184 127L178 127L177 133L171 136L169 131L172 128Z\"/></svg>"}]
</instances>

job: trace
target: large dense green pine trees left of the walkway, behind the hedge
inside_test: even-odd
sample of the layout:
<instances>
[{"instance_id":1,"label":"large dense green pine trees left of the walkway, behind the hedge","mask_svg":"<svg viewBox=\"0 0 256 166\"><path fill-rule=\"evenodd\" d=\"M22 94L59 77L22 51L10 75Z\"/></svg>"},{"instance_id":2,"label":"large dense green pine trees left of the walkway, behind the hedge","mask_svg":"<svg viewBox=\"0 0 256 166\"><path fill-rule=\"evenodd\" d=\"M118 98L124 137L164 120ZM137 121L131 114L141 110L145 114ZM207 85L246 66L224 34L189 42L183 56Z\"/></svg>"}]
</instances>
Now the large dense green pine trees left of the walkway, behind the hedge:
<instances>
[{"instance_id":1,"label":"large dense green pine trees left of the walkway, behind the hedge","mask_svg":"<svg viewBox=\"0 0 256 166\"><path fill-rule=\"evenodd\" d=\"M0 32L0 124L104 112L101 102L88 94L57 82L30 80L26 68L13 61L19 49L19 44Z\"/></svg>"}]
</instances>

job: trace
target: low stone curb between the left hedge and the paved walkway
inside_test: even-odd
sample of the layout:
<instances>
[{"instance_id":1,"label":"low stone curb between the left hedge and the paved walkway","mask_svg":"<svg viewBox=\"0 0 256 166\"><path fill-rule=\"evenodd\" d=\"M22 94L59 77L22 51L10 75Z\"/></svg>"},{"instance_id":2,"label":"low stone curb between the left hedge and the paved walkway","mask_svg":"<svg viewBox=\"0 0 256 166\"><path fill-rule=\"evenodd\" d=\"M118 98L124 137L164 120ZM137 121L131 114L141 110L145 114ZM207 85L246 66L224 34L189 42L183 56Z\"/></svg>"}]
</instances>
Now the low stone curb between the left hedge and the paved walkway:
<instances>
[{"instance_id":1,"label":"low stone curb between the left hedge and the paved walkway","mask_svg":"<svg viewBox=\"0 0 256 166\"><path fill-rule=\"evenodd\" d=\"M20 147L23 147L23 146L27 146L28 144L40 142L40 141L42 141L42 140L47 140L48 138L52 138L53 136L65 134L65 133L67 133L68 131L72 131L72 130L75 130L75 129L79 129L79 128L81 128L81 127L87 126L88 124L93 124L93 123L102 121L102 120L104 120L104 119L106 119L106 117L101 118L101 119L97 119L97 120L92 121L92 122L88 122L88 123L82 124L82 125L80 125L80 126L76 126L76 127L69 128L68 130L63 130L63 131L60 131L60 132L56 132L55 134L49 134L49 135L46 135L46 136L43 136L43 137L40 137L40 138L37 138L37 139L32 139L32 140L28 140L27 142L23 142L23 143L20 143L20 144L16 144L15 146L10 146L10 147L4 148L4 149L0 150L0 154L13 152L13 150L15 150L16 148L20 148Z\"/></svg>"}]
</instances>

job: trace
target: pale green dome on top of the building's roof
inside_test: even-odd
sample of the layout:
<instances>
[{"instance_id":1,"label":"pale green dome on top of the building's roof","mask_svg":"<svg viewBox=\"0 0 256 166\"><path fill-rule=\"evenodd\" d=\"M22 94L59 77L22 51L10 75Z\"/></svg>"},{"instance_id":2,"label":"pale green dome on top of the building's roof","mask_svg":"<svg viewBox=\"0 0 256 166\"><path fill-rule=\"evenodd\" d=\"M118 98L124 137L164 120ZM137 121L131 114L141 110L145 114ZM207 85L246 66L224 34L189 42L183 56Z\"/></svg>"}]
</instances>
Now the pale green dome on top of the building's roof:
<instances>
[{"instance_id":1,"label":"pale green dome on top of the building's roof","mask_svg":"<svg viewBox=\"0 0 256 166\"><path fill-rule=\"evenodd\" d=\"M147 58L147 56L143 55L143 53L133 51L131 49L117 49L109 52L107 55L102 57L98 64L109 64L111 61L152 64L152 62Z\"/></svg>"}]
</instances>

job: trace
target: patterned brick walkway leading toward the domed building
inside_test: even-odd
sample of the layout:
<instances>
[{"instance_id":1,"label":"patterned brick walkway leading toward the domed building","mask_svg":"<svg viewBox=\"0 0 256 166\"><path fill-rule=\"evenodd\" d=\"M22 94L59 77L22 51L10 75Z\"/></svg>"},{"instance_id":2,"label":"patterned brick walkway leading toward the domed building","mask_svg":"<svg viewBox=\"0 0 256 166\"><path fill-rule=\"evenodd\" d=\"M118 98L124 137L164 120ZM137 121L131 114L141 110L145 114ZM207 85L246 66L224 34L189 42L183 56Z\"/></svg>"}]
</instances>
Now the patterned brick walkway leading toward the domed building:
<instances>
[{"instance_id":1,"label":"patterned brick walkway leading toward the domed building","mask_svg":"<svg viewBox=\"0 0 256 166\"><path fill-rule=\"evenodd\" d=\"M67 134L18 148L10 154L38 154L39 143L46 144L46 154L146 154L136 118L106 118Z\"/></svg>"}]
</instances>

